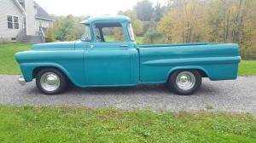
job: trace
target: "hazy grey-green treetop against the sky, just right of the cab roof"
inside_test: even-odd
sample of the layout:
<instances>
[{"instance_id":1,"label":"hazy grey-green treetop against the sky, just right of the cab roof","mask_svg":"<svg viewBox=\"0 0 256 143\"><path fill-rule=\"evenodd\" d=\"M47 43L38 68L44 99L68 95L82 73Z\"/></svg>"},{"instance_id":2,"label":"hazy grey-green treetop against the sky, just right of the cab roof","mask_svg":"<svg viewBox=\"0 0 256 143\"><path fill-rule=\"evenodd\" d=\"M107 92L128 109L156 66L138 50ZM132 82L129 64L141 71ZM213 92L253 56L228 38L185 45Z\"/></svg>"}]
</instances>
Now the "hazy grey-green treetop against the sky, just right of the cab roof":
<instances>
[{"instance_id":1,"label":"hazy grey-green treetop against the sky, just right of the cab roof","mask_svg":"<svg viewBox=\"0 0 256 143\"><path fill-rule=\"evenodd\" d=\"M152 16L154 13L153 4L148 0L143 0L138 2L134 7L134 11L136 11L137 18L142 21L152 20Z\"/></svg>"}]
</instances>

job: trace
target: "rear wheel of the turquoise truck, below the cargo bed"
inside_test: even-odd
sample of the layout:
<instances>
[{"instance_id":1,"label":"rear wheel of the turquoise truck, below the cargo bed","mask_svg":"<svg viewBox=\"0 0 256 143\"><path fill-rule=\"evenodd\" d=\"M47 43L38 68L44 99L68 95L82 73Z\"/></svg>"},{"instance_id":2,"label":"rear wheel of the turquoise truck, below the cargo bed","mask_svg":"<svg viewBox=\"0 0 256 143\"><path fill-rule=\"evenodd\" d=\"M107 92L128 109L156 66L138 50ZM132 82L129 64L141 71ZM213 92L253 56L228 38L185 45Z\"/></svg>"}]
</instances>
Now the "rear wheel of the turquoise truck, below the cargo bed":
<instances>
[{"instance_id":1,"label":"rear wheel of the turquoise truck, below the cargo bed","mask_svg":"<svg viewBox=\"0 0 256 143\"><path fill-rule=\"evenodd\" d=\"M201 86L201 74L195 70L173 72L169 78L168 86L177 94L194 94Z\"/></svg>"}]
</instances>

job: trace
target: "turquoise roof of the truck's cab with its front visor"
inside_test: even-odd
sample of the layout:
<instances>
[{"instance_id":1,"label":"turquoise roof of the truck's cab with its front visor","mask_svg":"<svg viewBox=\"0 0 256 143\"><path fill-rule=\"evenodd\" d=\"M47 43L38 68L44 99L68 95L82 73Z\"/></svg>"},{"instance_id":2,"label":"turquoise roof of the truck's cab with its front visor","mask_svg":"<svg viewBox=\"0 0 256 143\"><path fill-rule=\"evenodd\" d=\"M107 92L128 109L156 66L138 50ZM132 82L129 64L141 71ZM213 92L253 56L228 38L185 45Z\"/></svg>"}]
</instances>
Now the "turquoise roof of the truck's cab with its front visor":
<instances>
[{"instance_id":1,"label":"turquoise roof of the truck's cab with its front visor","mask_svg":"<svg viewBox=\"0 0 256 143\"><path fill-rule=\"evenodd\" d=\"M94 16L90 17L87 20L82 21L81 23L89 25L94 21L101 21L101 20L130 20L129 17L123 15L103 15L103 16Z\"/></svg>"}]
</instances>

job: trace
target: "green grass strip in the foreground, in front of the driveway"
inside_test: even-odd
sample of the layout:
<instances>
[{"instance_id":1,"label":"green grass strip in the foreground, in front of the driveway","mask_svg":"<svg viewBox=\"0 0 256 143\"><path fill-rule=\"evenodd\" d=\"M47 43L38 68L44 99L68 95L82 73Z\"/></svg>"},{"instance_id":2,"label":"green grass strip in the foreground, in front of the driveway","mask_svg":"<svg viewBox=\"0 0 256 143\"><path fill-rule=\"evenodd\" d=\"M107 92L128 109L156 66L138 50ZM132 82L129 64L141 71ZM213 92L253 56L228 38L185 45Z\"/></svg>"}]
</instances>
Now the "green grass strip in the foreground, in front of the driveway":
<instances>
[{"instance_id":1,"label":"green grass strip in the foreground, in front of the driveway","mask_svg":"<svg viewBox=\"0 0 256 143\"><path fill-rule=\"evenodd\" d=\"M250 114L0 106L0 142L255 142Z\"/></svg>"}]
</instances>

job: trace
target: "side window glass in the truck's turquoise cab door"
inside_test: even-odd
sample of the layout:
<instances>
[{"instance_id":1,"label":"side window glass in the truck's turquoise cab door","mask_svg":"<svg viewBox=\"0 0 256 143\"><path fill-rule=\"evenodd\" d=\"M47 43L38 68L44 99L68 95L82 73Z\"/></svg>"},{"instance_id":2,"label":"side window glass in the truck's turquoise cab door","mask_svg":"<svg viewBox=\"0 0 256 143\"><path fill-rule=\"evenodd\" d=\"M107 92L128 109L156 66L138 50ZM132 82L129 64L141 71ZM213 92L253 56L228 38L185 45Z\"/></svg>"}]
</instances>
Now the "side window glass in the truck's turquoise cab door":
<instances>
[{"instance_id":1,"label":"side window glass in the truck's turquoise cab door","mask_svg":"<svg viewBox=\"0 0 256 143\"><path fill-rule=\"evenodd\" d=\"M96 23L97 42L124 42L125 35L120 23Z\"/></svg>"}]
</instances>

